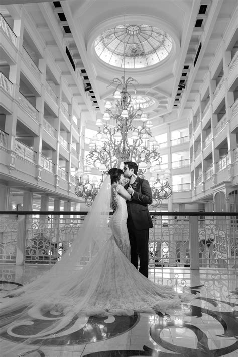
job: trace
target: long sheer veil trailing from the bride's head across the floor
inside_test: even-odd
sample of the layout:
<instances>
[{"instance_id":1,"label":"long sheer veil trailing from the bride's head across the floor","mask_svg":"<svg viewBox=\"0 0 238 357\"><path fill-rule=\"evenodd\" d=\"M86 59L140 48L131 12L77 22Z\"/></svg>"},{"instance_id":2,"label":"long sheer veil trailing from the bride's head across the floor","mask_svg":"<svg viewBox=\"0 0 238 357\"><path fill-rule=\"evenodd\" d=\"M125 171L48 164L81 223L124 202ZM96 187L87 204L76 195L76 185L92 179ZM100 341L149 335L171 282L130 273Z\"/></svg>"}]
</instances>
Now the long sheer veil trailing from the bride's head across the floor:
<instances>
[{"instance_id":1,"label":"long sheer veil trailing from the bride's head across the floor","mask_svg":"<svg viewBox=\"0 0 238 357\"><path fill-rule=\"evenodd\" d=\"M85 265L86 268L87 261L93 263L93 257L108 239L110 188L110 176L107 176L85 217L78 238L60 261L31 283L1 293L0 333L8 329L10 334L15 334L16 337L21 335L28 343L34 340L40 342L41 339L49 338L49 334L64 328L77 313L86 315L86 312L80 310L80 306L85 305L90 289L93 285L95 288L98 282L97 277L88 277L80 285L84 278L82 266ZM78 285L81 300L77 298ZM41 332L35 332L34 336L31 333L23 335L19 330L16 332L16 326L21 325L21 321L24 321L22 325L34 325L31 322L34 319L45 323L46 327ZM34 326L29 329L32 330Z\"/></svg>"}]
</instances>

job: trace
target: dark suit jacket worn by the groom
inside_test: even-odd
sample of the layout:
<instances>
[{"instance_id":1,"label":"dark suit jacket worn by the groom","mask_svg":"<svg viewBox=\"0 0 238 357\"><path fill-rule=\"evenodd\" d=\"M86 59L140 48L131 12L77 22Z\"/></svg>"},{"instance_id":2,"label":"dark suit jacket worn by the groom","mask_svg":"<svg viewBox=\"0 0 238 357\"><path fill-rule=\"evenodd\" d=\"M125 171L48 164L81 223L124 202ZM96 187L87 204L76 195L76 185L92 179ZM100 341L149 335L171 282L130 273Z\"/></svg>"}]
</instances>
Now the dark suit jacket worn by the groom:
<instances>
[{"instance_id":1,"label":"dark suit jacket worn by the groom","mask_svg":"<svg viewBox=\"0 0 238 357\"><path fill-rule=\"evenodd\" d=\"M138 230L152 228L152 220L148 205L152 203L152 193L148 180L137 177L133 184L132 201L127 200L128 216L131 216L134 226ZM127 190L129 184L124 188Z\"/></svg>"}]
</instances>

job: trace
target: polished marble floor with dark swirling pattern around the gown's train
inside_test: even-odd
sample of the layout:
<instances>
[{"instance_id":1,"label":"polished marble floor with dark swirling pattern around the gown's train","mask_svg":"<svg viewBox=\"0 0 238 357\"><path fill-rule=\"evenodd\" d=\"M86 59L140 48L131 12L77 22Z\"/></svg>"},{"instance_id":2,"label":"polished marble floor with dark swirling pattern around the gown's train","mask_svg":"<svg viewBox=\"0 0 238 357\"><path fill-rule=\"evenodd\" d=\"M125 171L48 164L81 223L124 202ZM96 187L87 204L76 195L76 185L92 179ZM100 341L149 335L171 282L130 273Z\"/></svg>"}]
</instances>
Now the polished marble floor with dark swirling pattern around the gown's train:
<instances>
[{"instance_id":1,"label":"polished marble floor with dark swirling pattern around the gown's train","mask_svg":"<svg viewBox=\"0 0 238 357\"><path fill-rule=\"evenodd\" d=\"M16 289L48 269L42 265L0 265L0 289ZM53 334L40 346L23 346L21 338L14 338L11 332L0 333L0 355L3 346L10 349L17 345L17 352L8 353L8 357L238 356L234 270L164 268L162 272L158 268L149 278L196 296L170 314L78 318L69 330Z\"/></svg>"}]
</instances>

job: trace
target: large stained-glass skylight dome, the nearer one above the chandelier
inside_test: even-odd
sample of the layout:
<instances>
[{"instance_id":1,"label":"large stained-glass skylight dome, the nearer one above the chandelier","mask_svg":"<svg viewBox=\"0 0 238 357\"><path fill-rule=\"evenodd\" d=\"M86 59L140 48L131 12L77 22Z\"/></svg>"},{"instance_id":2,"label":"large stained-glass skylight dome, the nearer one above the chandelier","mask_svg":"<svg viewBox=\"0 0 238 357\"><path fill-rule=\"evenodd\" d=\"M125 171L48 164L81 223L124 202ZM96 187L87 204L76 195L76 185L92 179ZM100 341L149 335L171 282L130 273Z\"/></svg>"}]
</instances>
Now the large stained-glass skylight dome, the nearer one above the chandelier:
<instances>
[{"instance_id":1,"label":"large stained-glass skylight dome, the nearer one above the chandelier","mask_svg":"<svg viewBox=\"0 0 238 357\"><path fill-rule=\"evenodd\" d=\"M112 66L144 68L164 60L173 42L165 31L154 26L118 25L99 35L94 46L98 57Z\"/></svg>"}]
</instances>

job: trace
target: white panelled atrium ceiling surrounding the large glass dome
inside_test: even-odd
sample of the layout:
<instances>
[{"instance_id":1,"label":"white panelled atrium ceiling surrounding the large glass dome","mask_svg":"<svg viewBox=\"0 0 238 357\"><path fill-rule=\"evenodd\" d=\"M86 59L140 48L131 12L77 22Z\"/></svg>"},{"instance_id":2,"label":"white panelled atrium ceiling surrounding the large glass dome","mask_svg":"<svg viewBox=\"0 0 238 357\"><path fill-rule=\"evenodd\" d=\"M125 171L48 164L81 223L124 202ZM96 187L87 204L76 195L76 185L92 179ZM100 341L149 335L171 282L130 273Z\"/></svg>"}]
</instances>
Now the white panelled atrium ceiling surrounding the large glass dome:
<instances>
[{"instance_id":1,"label":"white panelled atrium ceiling surrounding the large glass dome","mask_svg":"<svg viewBox=\"0 0 238 357\"><path fill-rule=\"evenodd\" d=\"M89 129L95 129L96 118L101 118L105 110L105 100L113 99L113 86L108 87L111 80L125 74L139 83L137 95L154 100L154 105L146 108L154 135L166 124L181 125L184 121L187 125L188 115L236 6L236 0L0 0L1 3L25 4L69 90L87 113ZM124 24L146 24L166 31L173 42L169 56L147 68L126 69L125 73L124 69L103 62L95 53L94 41L104 31ZM81 87L65 61L60 48L62 41L79 70ZM90 91L85 92L86 85L91 86Z\"/></svg>"}]
</instances>

